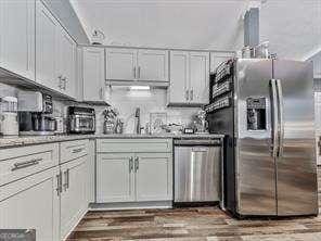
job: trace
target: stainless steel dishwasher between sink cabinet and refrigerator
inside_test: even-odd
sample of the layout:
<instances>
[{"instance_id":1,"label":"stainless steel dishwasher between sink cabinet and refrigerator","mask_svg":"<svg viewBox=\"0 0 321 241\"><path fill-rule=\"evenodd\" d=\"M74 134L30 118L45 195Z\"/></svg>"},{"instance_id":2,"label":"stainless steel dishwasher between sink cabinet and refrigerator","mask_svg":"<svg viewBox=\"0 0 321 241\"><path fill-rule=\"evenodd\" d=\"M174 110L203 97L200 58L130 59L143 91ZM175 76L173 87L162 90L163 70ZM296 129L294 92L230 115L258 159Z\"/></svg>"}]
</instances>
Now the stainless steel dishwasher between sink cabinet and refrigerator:
<instances>
[{"instance_id":1,"label":"stainless steel dishwasher between sink cabinet and refrigerator","mask_svg":"<svg viewBox=\"0 0 321 241\"><path fill-rule=\"evenodd\" d=\"M219 202L221 140L175 139L176 203Z\"/></svg>"}]
</instances>

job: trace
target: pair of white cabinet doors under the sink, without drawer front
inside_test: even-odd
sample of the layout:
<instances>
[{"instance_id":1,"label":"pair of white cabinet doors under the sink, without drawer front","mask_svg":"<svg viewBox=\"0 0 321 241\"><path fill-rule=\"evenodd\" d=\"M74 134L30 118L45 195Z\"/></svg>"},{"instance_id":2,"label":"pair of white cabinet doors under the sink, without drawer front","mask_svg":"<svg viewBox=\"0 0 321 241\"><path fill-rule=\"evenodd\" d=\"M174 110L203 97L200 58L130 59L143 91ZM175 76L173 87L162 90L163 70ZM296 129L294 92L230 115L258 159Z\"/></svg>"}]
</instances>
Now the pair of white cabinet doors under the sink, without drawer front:
<instances>
[{"instance_id":1,"label":"pair of white cabinet doors under the sink, without drawer front","mask_svg":"<svg viewBox=\"0 0 321 241\"><path fill-rule=\"evenodd\" d=\"M98 203L171 200L171 153L100 153L97 186Z\"/></svg>"}]
</instances>

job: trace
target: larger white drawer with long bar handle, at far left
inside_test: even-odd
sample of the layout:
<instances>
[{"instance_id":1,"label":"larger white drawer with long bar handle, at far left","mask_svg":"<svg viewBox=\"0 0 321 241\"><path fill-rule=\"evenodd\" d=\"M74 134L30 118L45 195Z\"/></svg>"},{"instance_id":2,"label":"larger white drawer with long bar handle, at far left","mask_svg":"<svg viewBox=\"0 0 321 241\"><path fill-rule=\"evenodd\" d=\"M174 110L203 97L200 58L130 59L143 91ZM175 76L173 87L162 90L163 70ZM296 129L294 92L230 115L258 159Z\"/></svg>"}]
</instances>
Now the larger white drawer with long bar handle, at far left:
<instances>
[{"instance_id":1,"label":"larger white drawer with long bar handle, at far left","mask_svg":"<svg viewBox=\"0 0 321 241\"><path fill-rule=\"evenodd\" d=\"M40 144L0 150L0 186L59 164L59 145Z\"/></svg>"}]
</instances>

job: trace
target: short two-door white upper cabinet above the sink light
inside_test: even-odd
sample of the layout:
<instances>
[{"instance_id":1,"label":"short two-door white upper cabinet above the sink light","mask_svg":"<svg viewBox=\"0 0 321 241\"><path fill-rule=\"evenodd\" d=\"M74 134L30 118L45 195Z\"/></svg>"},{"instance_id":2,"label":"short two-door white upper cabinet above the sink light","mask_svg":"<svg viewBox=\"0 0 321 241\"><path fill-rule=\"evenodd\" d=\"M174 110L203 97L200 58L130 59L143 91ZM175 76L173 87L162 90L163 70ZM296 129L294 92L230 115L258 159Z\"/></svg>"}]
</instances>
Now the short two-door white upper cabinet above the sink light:
<instances>
[{"instance_id":1,"label":"short two-door white upper cabinet above the sink light","mask_svg":"<svg viewBox=\"0 0 321 241\"><path fill-rule=\"evenodd\" d=\"M168 81L168 51L106 48L106 79Z\"/></svg>"}]
</instances>

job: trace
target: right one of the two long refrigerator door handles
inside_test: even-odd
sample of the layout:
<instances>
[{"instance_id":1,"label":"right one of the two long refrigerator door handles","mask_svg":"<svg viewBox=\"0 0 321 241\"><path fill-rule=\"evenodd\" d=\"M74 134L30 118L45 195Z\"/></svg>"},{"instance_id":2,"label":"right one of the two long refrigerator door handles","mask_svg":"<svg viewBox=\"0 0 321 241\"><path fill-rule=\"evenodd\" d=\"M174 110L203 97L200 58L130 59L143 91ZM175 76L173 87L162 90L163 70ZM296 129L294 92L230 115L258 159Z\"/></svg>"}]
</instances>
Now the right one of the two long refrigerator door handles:
<instances>
[{"instance_id":1,"label":"right one of the two long refrigerator door handles","mask_svg":"<svg viewBox=\"0 0 321 241\"><path fill-rule=\"evenodd\" d=\"M280 79L275 80L277 83L277 91L278 91L278 117L279 117L279 150L278 156L283 155L283 139L284 139L284 117L283 117L283 93L282 93L282 84Z\"/></svg>"}]
</instances>

